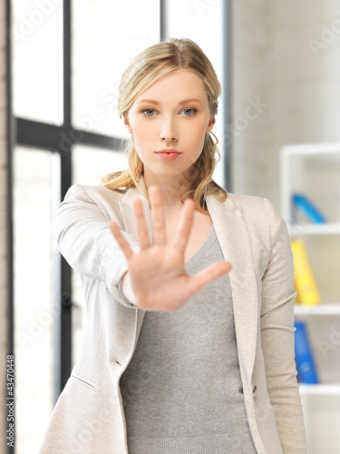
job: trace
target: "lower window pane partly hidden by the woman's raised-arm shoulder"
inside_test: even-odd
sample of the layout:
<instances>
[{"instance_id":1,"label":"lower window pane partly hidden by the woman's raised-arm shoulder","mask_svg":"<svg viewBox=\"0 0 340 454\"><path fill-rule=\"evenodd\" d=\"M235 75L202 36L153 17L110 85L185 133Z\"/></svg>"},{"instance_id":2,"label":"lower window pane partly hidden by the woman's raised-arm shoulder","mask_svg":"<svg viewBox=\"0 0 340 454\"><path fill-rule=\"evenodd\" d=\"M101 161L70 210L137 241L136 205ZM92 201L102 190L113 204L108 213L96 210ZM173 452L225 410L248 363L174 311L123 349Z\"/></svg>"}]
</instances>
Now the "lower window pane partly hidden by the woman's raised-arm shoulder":
<instances>
[{"instance_id":1,"label":"lower window pane partly hidden by the woman's raised-arm shoulder","mask_svg":"<svg viewBox=\"0 0 340 454\"><path fill-rule=\"evenodd\" d=\"M98 185L101 175L127 168L124 153L75 145L73 148L73 183ZM80 274L73 271L73 364L79 357L86 322L85 300Z\"/></svg>"}]
</instances>

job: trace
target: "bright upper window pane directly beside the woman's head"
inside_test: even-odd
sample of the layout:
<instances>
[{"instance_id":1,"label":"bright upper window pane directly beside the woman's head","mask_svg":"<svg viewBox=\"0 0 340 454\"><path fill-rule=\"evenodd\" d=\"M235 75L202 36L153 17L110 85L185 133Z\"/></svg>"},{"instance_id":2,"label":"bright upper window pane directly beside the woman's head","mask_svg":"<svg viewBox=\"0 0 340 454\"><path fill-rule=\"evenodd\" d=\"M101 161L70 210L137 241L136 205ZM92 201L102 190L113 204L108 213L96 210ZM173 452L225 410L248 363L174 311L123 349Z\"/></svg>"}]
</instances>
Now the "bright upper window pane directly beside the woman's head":
<instances>
[{"instance_id":1,"label":"bright upper window pane directly beside the woman's head","mask_svg":"<svg viewBox=\"0 0 340 454\"><path fill-rule=\"evenodd\" d=\"M127 135L117 114L121 74L160 41L160 0L73 1L73 125Z\"/></svg>"}]
</instances>

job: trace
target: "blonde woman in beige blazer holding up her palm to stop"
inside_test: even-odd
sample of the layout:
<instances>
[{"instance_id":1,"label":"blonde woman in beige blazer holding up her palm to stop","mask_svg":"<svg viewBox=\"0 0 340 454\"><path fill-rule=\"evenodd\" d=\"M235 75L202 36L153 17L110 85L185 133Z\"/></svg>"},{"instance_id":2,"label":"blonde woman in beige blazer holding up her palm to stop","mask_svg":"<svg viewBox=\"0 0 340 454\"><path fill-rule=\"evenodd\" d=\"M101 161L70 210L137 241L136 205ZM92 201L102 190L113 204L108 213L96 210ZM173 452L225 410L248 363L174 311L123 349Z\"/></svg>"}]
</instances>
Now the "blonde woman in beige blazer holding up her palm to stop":
<instances>
[{"instance_id":1,"label":"blonde woman in beige blazer holding up her palm to stop","mask_svg":"<svg viewBox=\"0 0 340 454\"><path fill-rule=\"evenodd\" d=\"M306 453L287 227L212 180L219 94L189 39L122 74L128 169L55 217L88 324L42 453Z\"/></svg>"}]
</instances>

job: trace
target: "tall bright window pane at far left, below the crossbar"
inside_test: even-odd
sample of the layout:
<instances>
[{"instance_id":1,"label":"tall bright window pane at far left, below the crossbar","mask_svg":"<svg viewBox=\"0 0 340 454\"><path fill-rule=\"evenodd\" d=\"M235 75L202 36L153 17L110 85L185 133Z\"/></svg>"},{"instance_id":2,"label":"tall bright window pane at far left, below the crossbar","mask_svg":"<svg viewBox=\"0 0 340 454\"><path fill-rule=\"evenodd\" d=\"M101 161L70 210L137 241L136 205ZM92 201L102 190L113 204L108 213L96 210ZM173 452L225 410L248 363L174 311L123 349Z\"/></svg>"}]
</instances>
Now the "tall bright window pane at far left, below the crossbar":
<instances>
[{"instance_id":1,"label":"tall bright window pane at far left, below the crossbar","mask_svg":"<svg viewBox=\"0 0 340 454\"><path fill-rule=\"evenodd\" d=\"M17 147L14 161L15 448L38 452L53 410L53 153Z\"/></svg>"}]
</instances>

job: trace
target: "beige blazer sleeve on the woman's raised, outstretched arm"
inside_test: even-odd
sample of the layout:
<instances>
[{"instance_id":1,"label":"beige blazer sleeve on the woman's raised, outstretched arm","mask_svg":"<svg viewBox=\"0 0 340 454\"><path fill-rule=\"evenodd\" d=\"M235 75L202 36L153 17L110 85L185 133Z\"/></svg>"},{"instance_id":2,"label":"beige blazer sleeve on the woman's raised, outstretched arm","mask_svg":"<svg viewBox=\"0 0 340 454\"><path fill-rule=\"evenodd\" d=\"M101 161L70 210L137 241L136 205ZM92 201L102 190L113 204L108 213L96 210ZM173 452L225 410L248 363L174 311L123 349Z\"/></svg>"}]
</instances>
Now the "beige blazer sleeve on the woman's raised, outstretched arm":
<instances>
[{"instance_id":1,"label":"beige blazer sleeve on the woman's raised, outstretched arm","mask_svg":"<svg viewBox=\"0 0 340 454\"><path fill-rule=\"evenodd\" d=\"M112 219L120 226L118 217ZM93 202L85 188L73 184L59 205L53 219L53 236L59 251L74 271L88 278L104 281L114 298L126 307L136 307L123 298L118 284L128 271L128 263L114 238L110 217L98 203ZM134 252L139 243L131 234L121 230Z\"/></svg>"}]
</instances>

